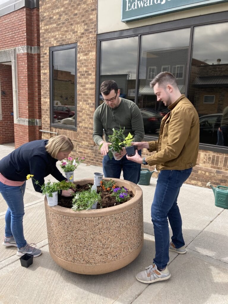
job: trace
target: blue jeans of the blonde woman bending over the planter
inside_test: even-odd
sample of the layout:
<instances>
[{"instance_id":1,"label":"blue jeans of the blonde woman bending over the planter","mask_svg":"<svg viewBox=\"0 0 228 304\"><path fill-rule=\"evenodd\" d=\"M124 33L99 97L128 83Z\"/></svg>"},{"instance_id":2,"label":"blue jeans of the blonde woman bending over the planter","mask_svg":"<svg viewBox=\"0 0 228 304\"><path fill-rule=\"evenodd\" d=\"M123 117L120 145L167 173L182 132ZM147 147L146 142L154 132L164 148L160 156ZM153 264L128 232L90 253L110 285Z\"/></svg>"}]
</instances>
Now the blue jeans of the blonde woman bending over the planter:
<instances>
[{"instance_id":1,"label":"blue jeans of the blonde woman bending over the planter","mask_svg":"<svg viewBox=\"0 0 228 304\"><path fill-rule=\"evenodd\" d=\"M5 214L5 236L13 235L18 248L27 244L23 233L25 185L26 182L22 186L8 186L0 181L0 192L8 205Z\"/></svg>"}]
</instances>

